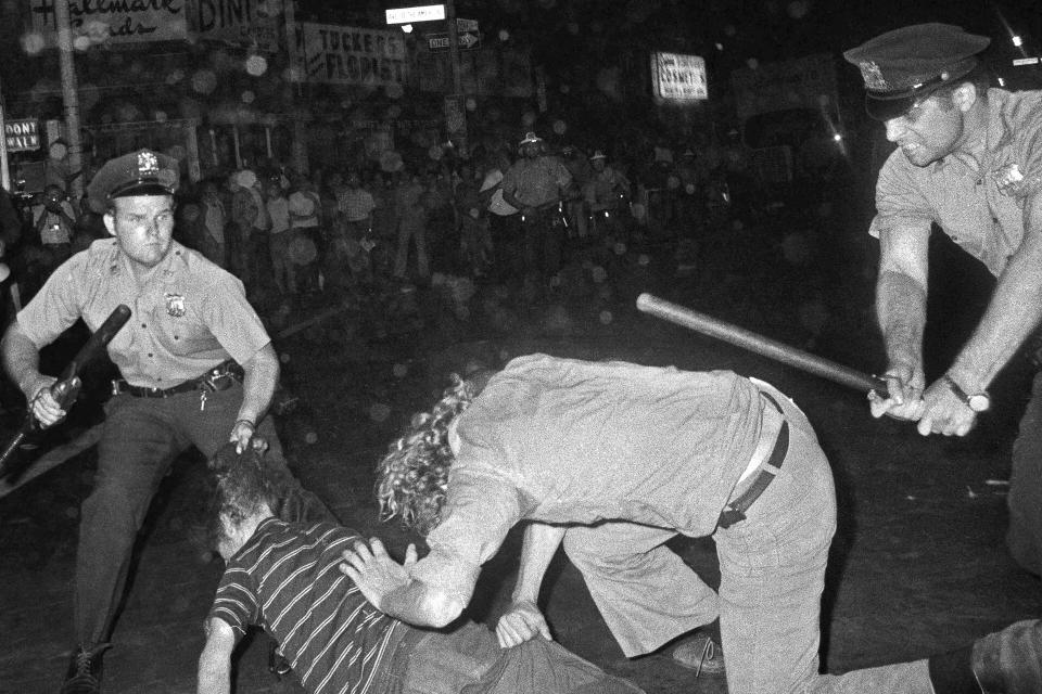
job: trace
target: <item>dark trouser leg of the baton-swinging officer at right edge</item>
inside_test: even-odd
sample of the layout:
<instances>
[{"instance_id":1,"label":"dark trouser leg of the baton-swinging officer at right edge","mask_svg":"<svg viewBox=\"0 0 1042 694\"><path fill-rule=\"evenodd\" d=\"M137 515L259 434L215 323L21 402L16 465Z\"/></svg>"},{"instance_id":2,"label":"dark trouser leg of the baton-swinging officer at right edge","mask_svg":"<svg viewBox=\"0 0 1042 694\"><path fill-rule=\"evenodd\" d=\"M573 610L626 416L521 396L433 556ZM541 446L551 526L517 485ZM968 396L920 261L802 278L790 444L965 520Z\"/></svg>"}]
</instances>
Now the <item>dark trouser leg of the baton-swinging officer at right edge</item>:
<instances>
[{"instance_id":1,"label":"dark trouser leg of the baton-swinging officer at right edge","mask_svg":"<svg viewBox=\"0 0 1042 694\"><path fill-rule=\"evenodd\" d=\"M1009 530L1006 544L1017 563L1042 574L1042 371L1034 374L1031 399L1013 444L1009 476Z\"/></svg>"}]
</instances>

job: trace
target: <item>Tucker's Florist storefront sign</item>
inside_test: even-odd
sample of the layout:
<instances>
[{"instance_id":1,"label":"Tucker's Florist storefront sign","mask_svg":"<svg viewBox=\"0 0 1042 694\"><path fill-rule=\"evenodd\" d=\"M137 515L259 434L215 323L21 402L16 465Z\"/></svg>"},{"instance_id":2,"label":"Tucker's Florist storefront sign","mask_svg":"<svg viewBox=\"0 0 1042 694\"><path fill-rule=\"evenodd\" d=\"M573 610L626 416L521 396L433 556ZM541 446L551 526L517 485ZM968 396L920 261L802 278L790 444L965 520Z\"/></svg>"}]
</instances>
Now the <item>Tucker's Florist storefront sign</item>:
<instances>
[{"instance_id":1,"label":"Tucker's Florist storefront sign","mask_svg":"<svg viewBox=\"0 0 1042 694\"><path fill-rule=\"evenodd\" d=\"M399 29L360 29L301 22L295 60L309 82L329 85L404 85L405 39Z\"/></svg>"}]
</instances>

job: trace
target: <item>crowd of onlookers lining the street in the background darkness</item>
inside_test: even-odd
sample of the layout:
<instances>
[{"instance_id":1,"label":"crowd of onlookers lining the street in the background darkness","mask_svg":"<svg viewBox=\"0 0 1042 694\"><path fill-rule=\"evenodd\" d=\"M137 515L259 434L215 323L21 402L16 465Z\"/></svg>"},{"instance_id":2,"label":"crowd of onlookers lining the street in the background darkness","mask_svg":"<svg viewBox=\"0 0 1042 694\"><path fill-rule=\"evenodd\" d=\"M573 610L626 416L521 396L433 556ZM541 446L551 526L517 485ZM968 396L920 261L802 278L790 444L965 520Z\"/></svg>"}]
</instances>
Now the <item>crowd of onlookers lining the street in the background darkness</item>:
<instances>
[{"instance_id":1,"label":"crowd of onlookers lining the street in the background darkness","mask_svg":"<svg viewBox=\"0 0 1042 694\"><path fill-rule=\"evenodd\" d=\"M734 152L619 144L587 150L528 133L520 143L479 144L468 156L445 147L437 158L397 155L307 174L269 163L186 180L175 239L233 272L252 296L296 300L423 283L439 272L546 280L569 247L690 235L734 204L728 180L741 174ZM538 213L523 201L533 184L523 170L533 162L541 170L559 166L569 179ZM107 235L101 214L69 200L61 182L33 196L4 195L4 203L15 308L71 254ZM560 246L552 261L533 250L543 240L526 237L536 218Z\"/></svg>"}]
</instances>

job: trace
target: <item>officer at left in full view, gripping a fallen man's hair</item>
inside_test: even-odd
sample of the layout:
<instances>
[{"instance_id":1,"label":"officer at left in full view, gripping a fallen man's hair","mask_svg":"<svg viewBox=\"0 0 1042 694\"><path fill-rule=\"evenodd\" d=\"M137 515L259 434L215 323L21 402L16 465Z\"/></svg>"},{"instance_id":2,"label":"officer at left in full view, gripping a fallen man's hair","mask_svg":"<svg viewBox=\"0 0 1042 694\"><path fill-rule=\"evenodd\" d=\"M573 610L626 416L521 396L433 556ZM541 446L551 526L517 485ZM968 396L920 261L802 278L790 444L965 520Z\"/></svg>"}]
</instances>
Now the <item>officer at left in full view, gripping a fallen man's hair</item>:
<instances>
[{"instance_id":1,"label":"officer at left in full view, gripping a fallen man's hair","mask_svg":"<svg viewBox=\"0 0 1042 694\"><path fill-rule=\"evenodd\" d=\"M171 240L176 159L140 150L107 162L88 193L111 239L59 267L3 337L4 367L41 425L65 412L39 350L78 319L98 326L120 304L129 322L109 345L119 368L99 444L94 489L80 514L75 629L63 692L98 692L101 654L131 549L173 461L190 446L207 458L224 444L270 446L279 515L331 519L285 466L266 416L279 361L242 283ZM258 435L255 439L254 435Z\"/></svg>"}]
</instances>

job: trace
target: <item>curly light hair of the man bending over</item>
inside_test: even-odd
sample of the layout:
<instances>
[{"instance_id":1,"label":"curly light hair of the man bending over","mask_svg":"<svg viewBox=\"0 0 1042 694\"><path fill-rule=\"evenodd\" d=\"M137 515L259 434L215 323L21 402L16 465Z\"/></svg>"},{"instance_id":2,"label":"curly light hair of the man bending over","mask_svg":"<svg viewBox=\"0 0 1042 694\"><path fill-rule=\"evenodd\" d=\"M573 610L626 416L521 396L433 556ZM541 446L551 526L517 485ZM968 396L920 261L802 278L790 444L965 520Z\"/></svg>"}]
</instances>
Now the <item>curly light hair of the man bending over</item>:
<instances>
[{"instance_id":1,"label":"curly light hair of the man bending over","mask_svg":"<svg viewBox=\"0 0 1042 694\"><path fill-rule=\"evenodd\" d=\"M402 518L407 527L427 535L441 522L448 486L453 450L448 426L481 391L487 377L463 381L453 374L453 385L430 412L412 415L405 434L387 449L377 465L377 499L380 517Z\"/></svg>"}]
</instances>

